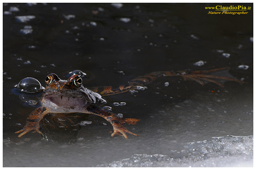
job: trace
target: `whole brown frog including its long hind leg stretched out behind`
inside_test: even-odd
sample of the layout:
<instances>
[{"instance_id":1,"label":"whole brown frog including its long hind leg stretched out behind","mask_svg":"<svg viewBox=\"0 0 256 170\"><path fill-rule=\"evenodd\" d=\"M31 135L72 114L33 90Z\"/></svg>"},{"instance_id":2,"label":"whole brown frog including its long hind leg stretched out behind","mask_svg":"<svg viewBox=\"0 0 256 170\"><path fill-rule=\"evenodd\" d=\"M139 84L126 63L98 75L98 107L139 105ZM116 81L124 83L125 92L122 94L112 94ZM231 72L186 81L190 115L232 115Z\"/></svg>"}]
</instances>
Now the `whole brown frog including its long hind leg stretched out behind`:
<instances>
[{"instance_id":1,"label":"whole brown frog including its long hind leg stretched out behind","mask_svg":"<svg viewBox=\"0 0 256 170\"><path fill-rule=\"evenodd\" d=\"M127 134L139 136L130 132L126 128L126 124L135 125L139 119L126 118L122 119L116 114L106 111L101 106L106 103L102 96L120 94L129 90L134 90L138 86L143 86L151 83L159 77L180 76L185 81L191 79L197 83L204 85L205 82L212 82L221 87L223 84L214 79L222 79L246 83L236 78L221 77L209 75L207 73L217 72L219 70L229 69L229 67L214 68L210 70L194 70L194 71L158 71L136 77L126 85L114 86L99 86L86 88L82 85L82 78L77 75L71 75L68 80L61 80L56 74L47 75L46 88L43 90L41 106L36 108L27 118L27 123L23 129L15 132L21 133L18 137L25 135L27 132L34 130L42 134L39 130L39 122L44 115L48 113L86 113L100 116L111 123L113 131L111 136L120 135L128 139Z\"/></svg>"}]
</instances>

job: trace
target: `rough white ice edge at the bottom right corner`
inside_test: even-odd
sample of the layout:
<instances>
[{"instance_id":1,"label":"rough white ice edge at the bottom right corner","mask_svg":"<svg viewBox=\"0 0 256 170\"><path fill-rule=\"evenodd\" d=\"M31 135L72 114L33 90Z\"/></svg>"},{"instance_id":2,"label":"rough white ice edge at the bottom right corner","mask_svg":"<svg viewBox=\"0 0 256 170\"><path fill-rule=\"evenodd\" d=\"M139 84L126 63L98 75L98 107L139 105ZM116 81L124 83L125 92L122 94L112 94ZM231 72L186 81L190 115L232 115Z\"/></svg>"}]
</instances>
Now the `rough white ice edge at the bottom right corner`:
<instances>
[{"instance_id":1,"label":"rough white ice edge at the bottom right corner","mask_svg":"<svg viewBox=\"0 0 256 170\"><path fill-rule=\"evenodd\" d=\"M161 154L134 154L101 167L252 167L253 136L213 137L188 143L172 157Z\"/></svg>"}]
</instances>

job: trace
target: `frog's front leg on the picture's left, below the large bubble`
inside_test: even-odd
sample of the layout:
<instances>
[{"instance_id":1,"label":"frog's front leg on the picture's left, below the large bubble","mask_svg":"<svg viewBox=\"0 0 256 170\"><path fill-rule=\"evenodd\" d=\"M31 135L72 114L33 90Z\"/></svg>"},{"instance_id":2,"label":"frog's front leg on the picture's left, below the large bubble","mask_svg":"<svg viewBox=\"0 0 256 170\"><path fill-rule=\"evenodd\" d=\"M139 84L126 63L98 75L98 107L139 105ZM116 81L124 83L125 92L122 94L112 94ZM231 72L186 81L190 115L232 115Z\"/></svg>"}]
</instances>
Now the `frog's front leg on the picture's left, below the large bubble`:
<instances>
[{"instance_id":1,"label":"frog's front leg on the picture's left, below the large bubble","mask_svg":"<svg viewBox=\"0 0 256 170\"><path fill-rule=\"evenodd\" d=\"M34 130L34 132L38 132L39 134L42 134L42 132L39 131L39 128L40 128L39 122L47 113L49 113L49 109L42 106L38 107L37 109L35 109L33 112L30 113L24 128L15 132L15 134L22 132L20 135L18 135L18 137L21 137L22 135L26 134L31 130Z\"/></svg>"}]
</instances>

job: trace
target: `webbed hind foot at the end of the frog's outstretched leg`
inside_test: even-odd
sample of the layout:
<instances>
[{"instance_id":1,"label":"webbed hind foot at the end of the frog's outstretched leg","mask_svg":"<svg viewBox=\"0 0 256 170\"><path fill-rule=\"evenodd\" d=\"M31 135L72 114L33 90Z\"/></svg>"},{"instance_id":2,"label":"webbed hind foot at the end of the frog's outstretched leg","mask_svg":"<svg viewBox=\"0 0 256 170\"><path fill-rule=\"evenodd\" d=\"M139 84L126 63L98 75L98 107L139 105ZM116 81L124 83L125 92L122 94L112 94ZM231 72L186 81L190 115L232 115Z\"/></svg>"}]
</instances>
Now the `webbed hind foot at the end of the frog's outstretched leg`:
<instances>
[{"instance_id":1,"label":"webbed hind foot at the end of the frog's outstretched leg","mask_svg":"<svg viewBox=\"0 0 256 170\"><path fill-rule=\"evenodd\" d=\"M219 83L218 81L215 81L213 79L222 79L222 80L236 81L239 83L246 83L244 81L241 81L241 80L238 80L235 78L203 74L203 73L216 72L216 71L224 70L224 69L228 69L228 68L229 67L216 68L216 69L211 69L211 70L199 70L199 71L193 71L193 72L187 73L187 74L181 74L180 76L183 77L184 80L192 79L201 85L204 85L203 80L205 80L205 81L212 82L212 83L215 83L215 84L223 87L223 85L221 83ZM186 73L186 72L184 72L184 73Z\"/></svg>"}]
</instances>

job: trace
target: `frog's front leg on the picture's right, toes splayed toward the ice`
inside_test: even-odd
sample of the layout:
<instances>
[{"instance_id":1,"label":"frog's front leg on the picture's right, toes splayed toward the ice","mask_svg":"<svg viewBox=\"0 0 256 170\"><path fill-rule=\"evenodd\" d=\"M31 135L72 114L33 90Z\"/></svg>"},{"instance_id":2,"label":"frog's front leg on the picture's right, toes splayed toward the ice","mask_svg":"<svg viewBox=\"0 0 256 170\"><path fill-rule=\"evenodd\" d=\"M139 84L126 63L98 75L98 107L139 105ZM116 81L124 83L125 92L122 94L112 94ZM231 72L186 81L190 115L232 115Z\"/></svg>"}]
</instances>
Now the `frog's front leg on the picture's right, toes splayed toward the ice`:
<instances>
[{"instance_id":1,"label":"frog's front leg on the picture's right, toes splayed toward the ice","mask_svg":"<svg viewBox=\"0 0 256 170\"><path fill-rule=\"evenodd\" d=\"M101 108L96 108L96 107L88 107L84 113L89 113L89 114L95 114L98 115L104 119L106 119L107 121L109 121L111 123L111 125L113 126L113 133L111 134L111 136L113 137L115 134L119 135L119 132L126 138L128 139L126 133L128 134L132 134L135 136L139 136L136 135L132 132L130 132L126 127L125 127L125 123L127 124L136 124L139 120L138 119L122 119L117 117L116 114L112 113L112 112L107 112L104 111Z\"/></svg>"}]
</instances>

